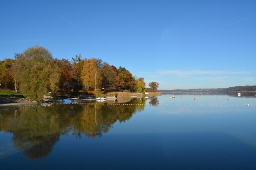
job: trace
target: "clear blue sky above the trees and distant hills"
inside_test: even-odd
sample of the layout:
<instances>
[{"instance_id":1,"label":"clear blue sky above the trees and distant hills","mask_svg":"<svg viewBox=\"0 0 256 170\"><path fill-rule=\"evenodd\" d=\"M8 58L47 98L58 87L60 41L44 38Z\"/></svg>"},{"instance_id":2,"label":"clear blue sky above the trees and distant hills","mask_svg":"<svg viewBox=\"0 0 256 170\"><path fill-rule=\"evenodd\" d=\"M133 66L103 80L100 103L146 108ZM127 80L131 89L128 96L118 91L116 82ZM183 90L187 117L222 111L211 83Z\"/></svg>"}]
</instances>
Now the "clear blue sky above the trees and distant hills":
<instances>
[{"instance_id":1,"label":"clear blue sky above the trees and distant hills","mask_svg":"<svg viewBox=\"0 0 256 170\"><path fill-rule=\"evenodd\" d=\"M0 2L0 60L101 58L159 89L256 85L255 0Z\"/></svg>"}]
</instances>

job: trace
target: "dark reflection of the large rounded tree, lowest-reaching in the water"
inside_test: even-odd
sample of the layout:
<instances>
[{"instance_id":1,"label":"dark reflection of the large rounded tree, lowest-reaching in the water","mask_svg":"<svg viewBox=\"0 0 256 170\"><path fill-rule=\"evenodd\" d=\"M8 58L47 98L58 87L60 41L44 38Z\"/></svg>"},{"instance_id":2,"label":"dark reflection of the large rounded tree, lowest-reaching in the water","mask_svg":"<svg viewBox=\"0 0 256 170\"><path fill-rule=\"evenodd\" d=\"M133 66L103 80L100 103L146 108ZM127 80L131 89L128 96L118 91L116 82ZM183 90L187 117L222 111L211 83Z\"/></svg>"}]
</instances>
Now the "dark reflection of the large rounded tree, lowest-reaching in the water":
<instances>
[{"instance_id":1,"label":"dark reflection of the large rounded tree, lowest-reaching in the water","mask_svg":"<svg viewBox=\"0 0 256 170\"><path fill-rule=\"evenodd\" d=\"M64 133L58 122L58 115L52 114L48 109L42 106L19 109L9 127L13 133L14 146L31 159L40 159L49 154L54 143Z\"/></svg>"}]
</instances>

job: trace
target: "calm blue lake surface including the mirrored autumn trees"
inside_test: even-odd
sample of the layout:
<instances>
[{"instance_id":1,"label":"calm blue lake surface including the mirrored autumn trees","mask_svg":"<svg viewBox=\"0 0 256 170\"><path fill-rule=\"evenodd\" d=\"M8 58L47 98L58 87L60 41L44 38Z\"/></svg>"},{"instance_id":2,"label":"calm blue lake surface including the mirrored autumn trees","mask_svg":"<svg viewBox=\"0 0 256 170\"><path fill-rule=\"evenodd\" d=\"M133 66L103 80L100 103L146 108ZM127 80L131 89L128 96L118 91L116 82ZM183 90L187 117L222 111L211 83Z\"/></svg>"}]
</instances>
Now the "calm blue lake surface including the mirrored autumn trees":
<instances>
[{"instance_id":1,"label":"calm blue lake surface including the mirrored autumn trees","mask_svg":"<svg viewBox=\"0 0 256 170\"><path fill-rule=\"evenodd\" d=\"M256 97L2 109L0 169L256 170Z\"/></svg>"}]
</instances>

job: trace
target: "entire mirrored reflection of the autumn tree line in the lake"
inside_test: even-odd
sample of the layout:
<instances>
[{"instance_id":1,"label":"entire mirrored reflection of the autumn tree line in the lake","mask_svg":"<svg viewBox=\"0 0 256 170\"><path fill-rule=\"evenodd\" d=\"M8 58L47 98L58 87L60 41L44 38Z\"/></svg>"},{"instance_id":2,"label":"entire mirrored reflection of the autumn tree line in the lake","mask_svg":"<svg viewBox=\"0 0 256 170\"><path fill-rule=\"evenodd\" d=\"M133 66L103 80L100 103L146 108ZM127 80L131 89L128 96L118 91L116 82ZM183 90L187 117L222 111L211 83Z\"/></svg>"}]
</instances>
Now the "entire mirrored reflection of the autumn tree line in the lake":
<instances>
[{"instance_id":1,"label":"entire mirrored reflection of the autumn tree line in the lake","mask_svg":"<svg viewBox=\"0 0 256 170\"><path fill-rule=\"evenodd\" d=\"M144 110L145 100L134 99L128 104L139 105L63 105L29 106L1 110L0 131L13 134L13 144L30 159L48 155L60 135L71 132L76 137L101 137L112 125L124 122L136 111Z\"/></svg>"}]
</instances>

